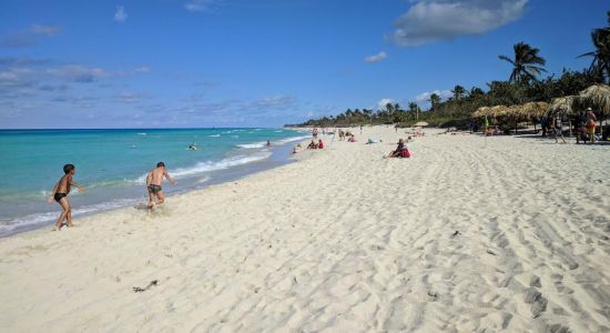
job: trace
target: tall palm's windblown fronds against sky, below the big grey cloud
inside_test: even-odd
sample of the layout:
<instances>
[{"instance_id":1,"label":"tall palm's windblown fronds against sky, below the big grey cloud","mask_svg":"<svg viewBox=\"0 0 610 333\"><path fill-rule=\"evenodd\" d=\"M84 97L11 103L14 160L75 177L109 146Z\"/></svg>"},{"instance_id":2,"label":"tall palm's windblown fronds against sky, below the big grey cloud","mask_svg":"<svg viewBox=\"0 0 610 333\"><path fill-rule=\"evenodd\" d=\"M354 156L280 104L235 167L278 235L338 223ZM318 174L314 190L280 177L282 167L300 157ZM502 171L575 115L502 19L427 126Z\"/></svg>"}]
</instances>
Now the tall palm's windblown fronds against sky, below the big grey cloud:
<instances>
[{"instance_id":1,"label":"tall palm's windblown fronds against sky, below the big grey cloud","mask_svg":"<svg viewBox=\"0 0 610 333\"><path fill-rule=\"evenodd\" d=\"M540 67L545 65L547 61L545 58L538 56L539 49L532 48L525 42L518 42L514 47L515 59L510 59L507 56L499 56L500 60L508 61L512 64L512 72L510 73L509 81L515 83L529 82L529 80L537 81L537 77L546 70Z\"/></svg>"}]
</instances>

